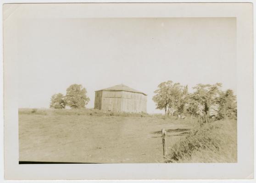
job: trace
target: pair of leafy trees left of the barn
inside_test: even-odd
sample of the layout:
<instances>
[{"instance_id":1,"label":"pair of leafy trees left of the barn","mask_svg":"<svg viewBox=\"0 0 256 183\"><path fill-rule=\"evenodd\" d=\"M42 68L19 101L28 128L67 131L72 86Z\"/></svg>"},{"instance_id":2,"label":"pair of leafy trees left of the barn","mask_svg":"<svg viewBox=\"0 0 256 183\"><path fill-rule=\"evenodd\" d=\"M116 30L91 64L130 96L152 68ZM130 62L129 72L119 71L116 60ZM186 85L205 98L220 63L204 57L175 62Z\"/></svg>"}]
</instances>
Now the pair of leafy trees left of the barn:
<instances>
[{"instance_id":1,"label":"pair of leafy trees left of the barn","mask_svg":"<svg viewBox=\"0 0 256 183\"><path fill-rule=\"evenodd\" d=\"M50 108L63 109L69 106L72 109L85 108L90 101L87 91L82 85L73 84L67 88L66 95L54 94L50 99Z\"/></svg>"}]
</instances>

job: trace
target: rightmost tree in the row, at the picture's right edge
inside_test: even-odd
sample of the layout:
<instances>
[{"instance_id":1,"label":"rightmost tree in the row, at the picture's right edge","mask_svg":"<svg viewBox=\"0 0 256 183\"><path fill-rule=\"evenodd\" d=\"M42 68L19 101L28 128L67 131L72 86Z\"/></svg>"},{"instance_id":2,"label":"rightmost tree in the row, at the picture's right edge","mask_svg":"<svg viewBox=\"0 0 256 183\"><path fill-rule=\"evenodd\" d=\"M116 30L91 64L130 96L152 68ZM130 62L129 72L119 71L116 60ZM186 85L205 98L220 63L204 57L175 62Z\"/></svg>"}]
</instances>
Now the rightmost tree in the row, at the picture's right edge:
<instances>
[{"instance_id":1,"label":"rightmost tree in the row, at the picture's right edge","mask_svg":"<svg viewBox=\"0 0 256 183\"><path fill-rule=\"evenodd\" d=\"M217 119L236 118L237 117L237 103L236 96L232 90L221 92L217 98L218 111Z\"/></svg>"}]
</instances>

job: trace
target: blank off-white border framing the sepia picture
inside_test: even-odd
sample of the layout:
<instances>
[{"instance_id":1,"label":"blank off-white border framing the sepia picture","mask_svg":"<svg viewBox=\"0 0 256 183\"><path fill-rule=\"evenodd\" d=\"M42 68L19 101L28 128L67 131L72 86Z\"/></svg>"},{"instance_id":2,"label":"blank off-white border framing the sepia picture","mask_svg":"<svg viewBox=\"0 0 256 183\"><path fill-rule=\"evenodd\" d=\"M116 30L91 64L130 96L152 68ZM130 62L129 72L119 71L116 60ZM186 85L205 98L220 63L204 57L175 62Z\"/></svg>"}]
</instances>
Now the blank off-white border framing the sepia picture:
<instances>
[{"instance_id":1,"label":"blank off-white border framing the sepia picture","mask_svg":"<svg viewBox=\"0 0 256 183\"><path fill-rule=\"evenodd\" d=\"M40 13L43 12L43 13ZM76 3L5 4L4 143L5 178L33 179L247 179L253 178L252 3ZM236 17L238 162L180 164L19 165L18 68L11 34L19 18Z\"/></svg>"}]
</instances>

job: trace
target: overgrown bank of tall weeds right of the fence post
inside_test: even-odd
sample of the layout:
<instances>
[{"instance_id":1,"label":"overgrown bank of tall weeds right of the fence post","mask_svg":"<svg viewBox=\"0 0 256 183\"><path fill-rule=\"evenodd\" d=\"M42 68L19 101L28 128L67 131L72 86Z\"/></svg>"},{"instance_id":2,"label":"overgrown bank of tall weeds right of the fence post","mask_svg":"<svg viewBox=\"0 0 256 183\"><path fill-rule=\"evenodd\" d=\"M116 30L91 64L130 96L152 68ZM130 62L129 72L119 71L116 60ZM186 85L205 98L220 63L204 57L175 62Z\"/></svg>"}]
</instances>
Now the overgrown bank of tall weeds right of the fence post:
<instances>
[{"instance_id":1,"label":"overgrown bank of tall weeds right of the fence post","mask_svg":"<svg viewBox=\"0 0 256 183\"><path fill-rule=\"evenodd\" d=\"M176 143L169 154L170 162L237 162L236 121L205 124L192 130Z\"/></svg>"}]
</instances>

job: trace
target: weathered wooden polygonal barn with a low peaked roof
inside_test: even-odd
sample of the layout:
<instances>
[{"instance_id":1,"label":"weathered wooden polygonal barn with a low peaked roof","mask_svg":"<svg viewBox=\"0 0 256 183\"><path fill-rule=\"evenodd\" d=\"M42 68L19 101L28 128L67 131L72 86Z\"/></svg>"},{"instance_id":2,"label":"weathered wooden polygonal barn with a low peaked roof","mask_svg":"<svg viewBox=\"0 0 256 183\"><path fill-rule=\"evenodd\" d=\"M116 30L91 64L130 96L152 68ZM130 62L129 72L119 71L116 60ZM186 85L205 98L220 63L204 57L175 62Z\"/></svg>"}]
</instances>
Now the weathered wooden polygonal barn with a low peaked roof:
<instances>
[{"instance_id":1,"label":"weathered wooden polygonal barn with a low peaked roof","mask_svg":"<svg viewBox=\"0 0 256 183\"><path fill-rule=\"evenodd\" d=\"M147 112L147 95L123 84L95 91L94 108L107 111Z\"/></svg>"}]
</instances>

